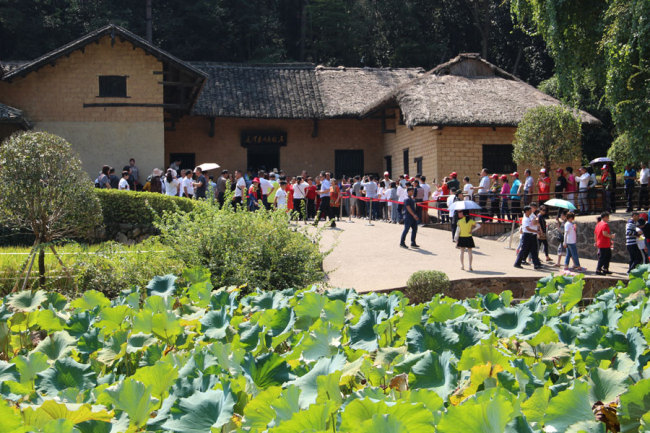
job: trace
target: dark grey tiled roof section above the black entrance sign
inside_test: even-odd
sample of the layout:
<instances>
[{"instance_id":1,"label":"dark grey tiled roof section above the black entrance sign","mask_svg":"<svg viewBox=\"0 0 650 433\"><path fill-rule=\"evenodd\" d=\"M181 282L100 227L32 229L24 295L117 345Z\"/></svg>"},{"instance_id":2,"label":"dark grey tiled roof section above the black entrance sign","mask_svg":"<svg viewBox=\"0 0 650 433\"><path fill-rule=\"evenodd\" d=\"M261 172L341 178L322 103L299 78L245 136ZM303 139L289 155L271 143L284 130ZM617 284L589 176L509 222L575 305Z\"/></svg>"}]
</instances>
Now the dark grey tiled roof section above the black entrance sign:
<instances>
[{"instance_id":1,"label":"dark grey tiled roof section above the black entrance sign","mask_svg":"<svg viewBox=\"0 0 650 433\"><path fill-rule=\"evenodd\" d=\"M317 119L323 115L311 64L192 64L208 75L192 114L272 119Z\"/></svg>"}]
</instances>

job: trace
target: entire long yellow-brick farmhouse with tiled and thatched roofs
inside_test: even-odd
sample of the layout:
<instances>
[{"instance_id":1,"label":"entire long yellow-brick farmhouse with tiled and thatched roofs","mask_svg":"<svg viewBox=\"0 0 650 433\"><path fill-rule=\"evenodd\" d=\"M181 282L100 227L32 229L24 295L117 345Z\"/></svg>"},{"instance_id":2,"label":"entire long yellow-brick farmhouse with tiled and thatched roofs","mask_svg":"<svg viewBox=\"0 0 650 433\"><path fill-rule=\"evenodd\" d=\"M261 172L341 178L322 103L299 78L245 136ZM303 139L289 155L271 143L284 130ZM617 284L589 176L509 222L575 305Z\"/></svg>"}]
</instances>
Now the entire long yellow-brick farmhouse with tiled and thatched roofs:
<instances>
[{"instance_id":1,"label":"entire long yellow-brick farmhouse with tiled and thatched roofs","mask_svg":"<svg viewBox=\"0 0 650 433\"><path fill-rule=\"evenodd\" d=\"M560 103L476 54L428 72L185 62L114 25L1 65L0 128L13 119L67 138L91 176L129 158L145 174L176 160L292 175L506 172L524 112Z\"/></svg>"}]
</instances>

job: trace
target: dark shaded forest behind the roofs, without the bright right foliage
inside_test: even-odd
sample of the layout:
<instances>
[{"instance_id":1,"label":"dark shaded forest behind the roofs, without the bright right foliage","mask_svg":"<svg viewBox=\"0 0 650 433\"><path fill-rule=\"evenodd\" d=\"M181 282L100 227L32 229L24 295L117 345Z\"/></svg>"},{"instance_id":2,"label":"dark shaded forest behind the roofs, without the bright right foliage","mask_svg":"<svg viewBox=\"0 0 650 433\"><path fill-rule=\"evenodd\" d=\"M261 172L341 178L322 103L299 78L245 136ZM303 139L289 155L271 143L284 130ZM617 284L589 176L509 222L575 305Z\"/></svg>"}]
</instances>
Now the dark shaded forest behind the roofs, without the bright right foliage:
<instances>
[{"instance_id":1,"label":"dark shaded forest behind the roofs, without the bright right foliage","mask_svg":"<svg viewBox=\"0 0 650 433\"><path fill-rule=\"evenodd\" d=\"M109 22L144 36L145 0L4 0L0 59L32 59ZM533 84L541 37L497 0L152 0L153 42L185 60L431 68L459 52Z\"/></svg>"}]
</instances>

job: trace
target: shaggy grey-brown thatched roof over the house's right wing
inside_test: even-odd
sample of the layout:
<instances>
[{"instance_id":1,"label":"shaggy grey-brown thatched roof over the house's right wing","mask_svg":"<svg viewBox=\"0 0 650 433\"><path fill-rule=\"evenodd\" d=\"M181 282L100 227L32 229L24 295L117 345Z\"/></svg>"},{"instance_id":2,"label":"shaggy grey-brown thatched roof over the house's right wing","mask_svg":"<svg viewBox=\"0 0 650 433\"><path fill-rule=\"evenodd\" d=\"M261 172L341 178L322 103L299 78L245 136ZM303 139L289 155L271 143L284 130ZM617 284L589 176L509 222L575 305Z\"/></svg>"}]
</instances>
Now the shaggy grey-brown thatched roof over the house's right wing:
<instances>
[{"instance_id":1,"label":"shaggy grey-brown thatched roof over the house's right wing","mask_svg":"<svg viewBox=\"0 0 650 433\"><path fill-rule=\"evenodd\" d=\"M363 115L399 107L409 127L516 126L526 110L560 104L478 54L461 54L380 97ZM584 123L600 123L584 111L579 115Z\"/></svg>"}]
</instances>

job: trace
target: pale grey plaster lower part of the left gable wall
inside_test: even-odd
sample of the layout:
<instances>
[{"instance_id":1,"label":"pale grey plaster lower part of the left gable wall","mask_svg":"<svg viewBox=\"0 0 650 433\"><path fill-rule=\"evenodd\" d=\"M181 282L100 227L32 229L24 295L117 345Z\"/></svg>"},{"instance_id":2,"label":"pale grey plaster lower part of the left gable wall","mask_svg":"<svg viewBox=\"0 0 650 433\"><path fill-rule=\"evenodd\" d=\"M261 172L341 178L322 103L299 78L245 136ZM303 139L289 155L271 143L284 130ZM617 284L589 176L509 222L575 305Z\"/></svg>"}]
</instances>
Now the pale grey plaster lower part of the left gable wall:
<instances>
[{"instance_id":1,"label":"pale grey plaster lower part of the left gable wall","mask_svg":"<svg viewBox=\"0 0 650 433\"><path fill-rule=\"evenodd\" d=\"M165 168L163 122L39 122L34 129L70 142L91 179L104 164L115 167L119 177L130 158L140 169L141 183L154 168Z\"/></svg>"}]
</instances>

